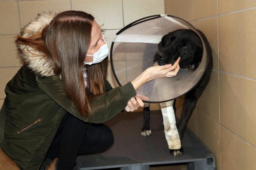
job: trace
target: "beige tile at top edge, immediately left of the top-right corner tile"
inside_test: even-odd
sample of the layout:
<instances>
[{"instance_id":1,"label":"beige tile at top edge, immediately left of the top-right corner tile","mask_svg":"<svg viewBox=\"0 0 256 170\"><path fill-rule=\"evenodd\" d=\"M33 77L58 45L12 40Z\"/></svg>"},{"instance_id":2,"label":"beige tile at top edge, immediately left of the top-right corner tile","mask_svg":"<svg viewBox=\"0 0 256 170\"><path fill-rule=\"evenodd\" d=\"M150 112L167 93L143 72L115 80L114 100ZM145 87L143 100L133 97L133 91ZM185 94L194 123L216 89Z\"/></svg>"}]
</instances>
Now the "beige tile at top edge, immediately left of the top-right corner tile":
<instances>
[{"instance_id":1,"label":"beige tile at top edge, immediately left of the top-right corner tile","mask_svg":"<svg viewBox=\"0 0 256 170\"><path fill-rule=\"evenodd\" d=\"M216 0L194 0L194 19L217 15Z\"/></svg>"}]
</instances>

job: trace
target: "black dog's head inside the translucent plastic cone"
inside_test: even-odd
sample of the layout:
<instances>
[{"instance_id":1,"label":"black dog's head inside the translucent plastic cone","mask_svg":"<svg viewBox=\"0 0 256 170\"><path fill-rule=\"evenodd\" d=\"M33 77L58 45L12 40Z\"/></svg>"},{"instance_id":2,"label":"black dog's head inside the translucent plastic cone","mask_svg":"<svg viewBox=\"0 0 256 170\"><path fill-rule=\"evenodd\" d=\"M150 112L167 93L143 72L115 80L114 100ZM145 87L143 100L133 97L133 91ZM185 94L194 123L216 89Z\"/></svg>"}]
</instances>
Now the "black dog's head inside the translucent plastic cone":
<instances>
[{"instance_id":1,"label":"black dog's head inside the translucent plastic cone","mask_svg":"<svg viewBox=\"0 0 256 170\"><path fill-rule=\"evenodd\" d=\"M154 56L154 62L158 65L173 64L181 57L180 67L189 68L190 71L198 67L203 55L202 41L190 29L175 30L166 34L158 43L158 49Z\"/></svg>"}]
</instances>

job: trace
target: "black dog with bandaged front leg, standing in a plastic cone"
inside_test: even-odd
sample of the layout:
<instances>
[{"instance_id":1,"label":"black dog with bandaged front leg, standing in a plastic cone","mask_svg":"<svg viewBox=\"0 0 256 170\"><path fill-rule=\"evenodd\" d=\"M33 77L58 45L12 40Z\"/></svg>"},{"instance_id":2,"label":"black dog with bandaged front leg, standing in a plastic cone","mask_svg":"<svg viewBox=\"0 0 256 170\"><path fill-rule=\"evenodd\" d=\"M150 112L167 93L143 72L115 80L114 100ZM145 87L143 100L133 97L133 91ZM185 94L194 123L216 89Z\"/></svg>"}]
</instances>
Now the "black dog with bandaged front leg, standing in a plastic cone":
<instances>
[{"instance_id":1,"label":"black dog with bandaged front leg, standing in a plastic cone","mask_svg":"<svg viewBox=\"0 0 256 170\"><path fill-rule=\"evenodd\" d=\"M183 134L186 128L186 124L195 108L196 102L199 97L203 93L205 87L207 86L211 70L212 70L212 53L210 44L205 37L205 35L198 30L201 36L204 39L205 45L207 46L207 63L206 70L203 74L202 79L198 82L198 84L185 94L185 101L182 108L181 119L179 123L177 123L177 128L179 131L180 140L182 141ZM188 68L189 71L194 71L198 68L203 54L202 42L199 36L192 30L189 29L180 29L170 32L162 37L161 42L158 43L158 51L154 56L154 62L157 62L158 65L164 65L171 63L173 64L179 57L180 59L180 67ZM174 112L176 112L175 101L173 104ZM151 134L151 130L149 127L149 107L144 107L144 124L142 128L143 136L149 136ZM147 131L145 133L145 131ZM143 133L144 132L144 133ZM176 156L182 154L182 148L179 150L171 150L171 153Z\"/></svg>"}]
</instances>

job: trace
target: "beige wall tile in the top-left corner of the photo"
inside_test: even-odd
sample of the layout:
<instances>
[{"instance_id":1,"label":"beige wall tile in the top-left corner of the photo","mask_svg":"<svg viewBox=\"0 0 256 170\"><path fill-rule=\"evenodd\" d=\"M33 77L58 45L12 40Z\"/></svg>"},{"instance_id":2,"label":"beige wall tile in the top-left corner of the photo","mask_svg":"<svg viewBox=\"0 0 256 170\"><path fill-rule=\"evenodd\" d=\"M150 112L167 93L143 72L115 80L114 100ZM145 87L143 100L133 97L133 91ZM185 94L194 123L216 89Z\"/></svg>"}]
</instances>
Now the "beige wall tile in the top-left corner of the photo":
<instances>
[{"instance_id":1,"label":"beige wall tile in the top-left corner of the photo","mask_svg":"<svg viewBox=\"0 0 256 170\"><path fill-rule=\"evenodd\" d=\"M17 1L0 2L0 34L17 34L20 32Z\"/></svg>"}]
</instances>

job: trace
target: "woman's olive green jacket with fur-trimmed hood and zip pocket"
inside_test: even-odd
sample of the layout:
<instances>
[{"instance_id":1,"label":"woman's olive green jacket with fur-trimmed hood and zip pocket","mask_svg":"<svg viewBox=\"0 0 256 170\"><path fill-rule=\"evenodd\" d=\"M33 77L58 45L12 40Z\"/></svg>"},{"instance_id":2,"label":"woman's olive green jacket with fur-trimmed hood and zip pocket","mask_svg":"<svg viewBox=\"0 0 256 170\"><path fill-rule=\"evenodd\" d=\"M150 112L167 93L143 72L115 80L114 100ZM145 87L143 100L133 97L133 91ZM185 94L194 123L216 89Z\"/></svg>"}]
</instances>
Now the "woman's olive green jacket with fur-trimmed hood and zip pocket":
<instances>
[{"instance_id":1,"label":"woman's olive green jacket with fur-trimmed hood and zip pocket","mask_svg":"<svg viewBox=\"0 0 256 170\"><path fill-rule=\"evenodd\" d=\"M51 12L39 14L22 29L21 36L40 32L54 16ZM6 85L0 111L0 147L20 169L40 168L65 113L85 122L101 123L116 116L136 95L130 82L112 89L106 80L106 93L92 100L93 117L83 117L66 97L49 59L30 46L17 44L17 48L24 66Z\"/></svg>"}]
</instances>

